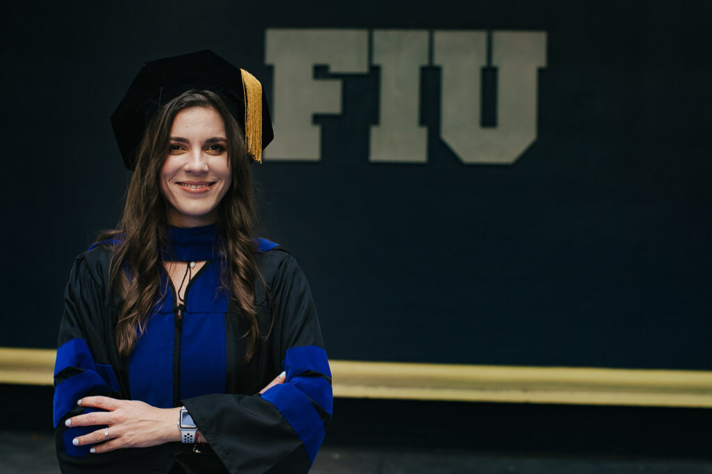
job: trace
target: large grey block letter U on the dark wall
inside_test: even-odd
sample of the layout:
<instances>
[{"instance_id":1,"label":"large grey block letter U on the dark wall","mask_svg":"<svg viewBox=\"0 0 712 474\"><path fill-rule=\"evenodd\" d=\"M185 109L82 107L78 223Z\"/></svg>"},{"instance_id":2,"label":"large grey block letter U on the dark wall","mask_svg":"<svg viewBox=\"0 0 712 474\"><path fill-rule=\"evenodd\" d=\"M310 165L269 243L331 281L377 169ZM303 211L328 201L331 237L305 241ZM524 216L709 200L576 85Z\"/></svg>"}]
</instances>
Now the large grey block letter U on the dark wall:
<instances>
[{"instance_id":1,"label":"large grey block letter U on the dark wall","mask_svg":"<svg viewBox=\"0 0 712 474\"><path fill-rule=\"evenodd\" d=\"M464 163L512 164L536 139L537 70L546 65L546 33L499 31L492 43L497 127L483 128L486 33L434 33L434 63L442 68L440 136Z\"/></svg>"}]
</instances>

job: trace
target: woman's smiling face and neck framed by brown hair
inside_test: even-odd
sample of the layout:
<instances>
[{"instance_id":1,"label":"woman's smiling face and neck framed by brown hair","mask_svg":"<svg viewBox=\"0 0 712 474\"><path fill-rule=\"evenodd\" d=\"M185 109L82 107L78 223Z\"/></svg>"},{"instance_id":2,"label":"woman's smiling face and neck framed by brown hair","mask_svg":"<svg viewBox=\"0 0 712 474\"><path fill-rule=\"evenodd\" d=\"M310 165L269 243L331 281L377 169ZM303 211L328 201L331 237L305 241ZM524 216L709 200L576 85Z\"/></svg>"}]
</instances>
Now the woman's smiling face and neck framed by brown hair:
<instances>
[{"instance_id":1,"label":"woman's smiling face and neck framed by brown hair","mask_svg":"<svg viewBox=\"0 0 712 474\"><path fill-rule=\"evenodd\" d=\"M231 174L225 125L216 110L191 107L178 112L159 181L170 225L197 227L217 221L217 206L230 188Z\"/></svg>"}]
</instances>

